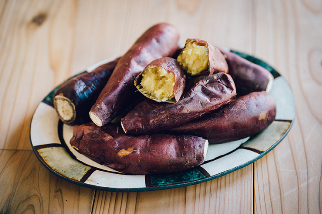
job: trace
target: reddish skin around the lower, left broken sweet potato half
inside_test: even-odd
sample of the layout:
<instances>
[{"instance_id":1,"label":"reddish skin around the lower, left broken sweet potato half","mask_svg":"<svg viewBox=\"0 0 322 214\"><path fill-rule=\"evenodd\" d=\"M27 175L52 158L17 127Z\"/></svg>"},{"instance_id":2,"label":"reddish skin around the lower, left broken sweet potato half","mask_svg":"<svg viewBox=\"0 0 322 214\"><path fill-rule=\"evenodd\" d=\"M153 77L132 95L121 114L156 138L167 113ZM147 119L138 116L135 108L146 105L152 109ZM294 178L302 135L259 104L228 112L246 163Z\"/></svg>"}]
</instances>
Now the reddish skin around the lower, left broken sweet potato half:
<instances>
[{"instance_id":1,"label":"reddish skin around the lower, left broken sweet potato half","mask_svg":"<svg viewBox=\"0 0 322 214\"><path fill-rule=\"evenodd\" d=\"M178 100L180 99L184 89L185 89L185 85L186 85L186 73L185 71L182 69L182 67L179 65L179 63L170 57L163 57L160 59L156 59L153 60L152 62L150 62L146 67L150 66L150 65L156 65L159 67L164 68L166 71L172 72L175 76L175 85L174 85L174 99L169 100L167 102L169 103L177 103ZM142 73L141 72L139 75L137 75L137 77L134 80L134 85L137 89L140 89L141 85L141 80L142 80ZM146 94L143 94L144 96L146 96ZM147 96L148 98L150 98L149 96Z\"/></svg>"}]
</instances>

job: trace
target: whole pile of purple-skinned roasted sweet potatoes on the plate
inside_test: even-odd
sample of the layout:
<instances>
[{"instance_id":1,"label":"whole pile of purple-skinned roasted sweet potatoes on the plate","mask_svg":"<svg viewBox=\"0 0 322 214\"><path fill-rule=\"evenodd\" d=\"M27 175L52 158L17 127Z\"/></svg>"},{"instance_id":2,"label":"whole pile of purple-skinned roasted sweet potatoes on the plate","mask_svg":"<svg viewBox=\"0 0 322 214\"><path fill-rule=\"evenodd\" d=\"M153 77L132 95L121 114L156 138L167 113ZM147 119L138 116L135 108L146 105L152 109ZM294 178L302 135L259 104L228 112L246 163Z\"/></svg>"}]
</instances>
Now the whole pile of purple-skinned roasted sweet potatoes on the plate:
<instances>
[{"instance_id":1,"label":"whole pile of purple-skinned roasted sweet potatoes on the plate","mask_svg":"<svg viewBox=\"0 0 322 214\"><path fill-rule=\"evenodd\" d=\"M126 174L179 172L203 163L208 143L274 121L268 70L206 41L187 39L181 49L178 40L176 27L156 24L113 63L60 86L55 108L64 123L78 123L74 149Z\"/></svg>"}]
</instances>

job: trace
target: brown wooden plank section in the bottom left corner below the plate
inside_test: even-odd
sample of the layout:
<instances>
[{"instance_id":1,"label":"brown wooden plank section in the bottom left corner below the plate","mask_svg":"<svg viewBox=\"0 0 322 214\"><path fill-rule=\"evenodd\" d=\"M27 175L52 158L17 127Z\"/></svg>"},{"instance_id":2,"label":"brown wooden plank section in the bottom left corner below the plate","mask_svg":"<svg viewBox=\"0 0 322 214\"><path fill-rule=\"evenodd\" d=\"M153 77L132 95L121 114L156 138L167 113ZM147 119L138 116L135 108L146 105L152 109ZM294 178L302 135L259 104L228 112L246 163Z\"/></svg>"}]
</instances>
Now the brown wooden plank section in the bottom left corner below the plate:
<instances>
[{"instance_id":1,"label":"brown wooden plank section in the bottom left corner below the plate","mask_svg":"<svg viewBox=\"0 0 322 214\"><path fill-rule=\"evenodd\" d=\"M33 151L0 151L0 213L90 213L94 190L50 173Z\"/></svg>"}]
</instances>

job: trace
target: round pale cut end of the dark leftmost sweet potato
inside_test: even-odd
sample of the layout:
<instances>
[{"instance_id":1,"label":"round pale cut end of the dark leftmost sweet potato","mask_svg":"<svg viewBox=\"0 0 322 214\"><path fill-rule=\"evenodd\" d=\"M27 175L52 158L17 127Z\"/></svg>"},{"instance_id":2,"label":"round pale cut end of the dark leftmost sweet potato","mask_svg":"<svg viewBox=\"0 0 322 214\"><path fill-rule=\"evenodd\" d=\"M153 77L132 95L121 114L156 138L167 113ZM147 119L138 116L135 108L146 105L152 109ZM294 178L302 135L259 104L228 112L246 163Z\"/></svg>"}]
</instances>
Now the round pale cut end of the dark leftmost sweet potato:
<instances>
[{"instance_id":1,"label":"round pale cut end of the dark leftmost sweet potato","mask_svg":"<svg viewBox=\"0 0 322 214\"><path fill-rule=\"evenodd\" d=\"M65 123L71 123L76 118L76 109L74 103L67 97L57 95L54 97L54 106L59 118Z\"/></svg>"}]
</instances>

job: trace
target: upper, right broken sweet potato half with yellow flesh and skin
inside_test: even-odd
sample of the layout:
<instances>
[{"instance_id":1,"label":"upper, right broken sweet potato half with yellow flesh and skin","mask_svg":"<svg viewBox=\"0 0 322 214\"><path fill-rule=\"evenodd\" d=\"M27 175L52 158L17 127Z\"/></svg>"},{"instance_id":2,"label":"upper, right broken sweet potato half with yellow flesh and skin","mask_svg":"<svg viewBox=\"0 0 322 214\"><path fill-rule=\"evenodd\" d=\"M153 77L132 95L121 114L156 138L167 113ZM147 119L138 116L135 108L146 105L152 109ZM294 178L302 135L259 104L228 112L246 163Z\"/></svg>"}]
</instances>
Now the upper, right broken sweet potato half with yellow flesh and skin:
<instances>
[{"instance_id":1,"label":"upper, right broken sweet potato half with yellow flesh and skin","mask_svg":"<svg viewBox=\"0 0 322 214\"><path fill-rule=\"evenodd\" d=\"M187 39L177 61L192 76L228 73L227 62L219 49L200 39Z\"/></svg>"}]
</instances>

